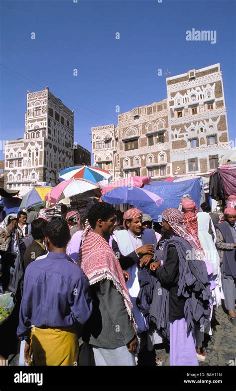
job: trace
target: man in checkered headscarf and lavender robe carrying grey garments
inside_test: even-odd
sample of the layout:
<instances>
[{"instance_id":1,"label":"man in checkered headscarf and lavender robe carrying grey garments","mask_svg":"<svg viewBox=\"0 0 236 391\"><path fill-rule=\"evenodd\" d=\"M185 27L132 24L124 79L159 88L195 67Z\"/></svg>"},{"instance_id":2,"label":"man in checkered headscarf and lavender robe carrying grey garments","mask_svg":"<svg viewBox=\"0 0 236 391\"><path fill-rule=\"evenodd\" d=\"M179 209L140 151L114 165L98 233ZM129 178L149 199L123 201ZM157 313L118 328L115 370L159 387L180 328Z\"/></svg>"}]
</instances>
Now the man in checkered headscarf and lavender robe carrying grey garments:
<instances>
[{"instance_id":1,"label":"man in checkered headscarf and lavender robe carrying grey garments","mask_svg":"<svg viewBox=\"0 0 236 391\"><path fill-rule=\"evenodd\" d=\"M168 208L162 219L171 239L164 247L163 266L161 261L150 265L158 279L150 318L170 340L170 365L198 365L195 327L206 330L211 314L207 267L181 212Z\"/></svg>"}]
</instances>

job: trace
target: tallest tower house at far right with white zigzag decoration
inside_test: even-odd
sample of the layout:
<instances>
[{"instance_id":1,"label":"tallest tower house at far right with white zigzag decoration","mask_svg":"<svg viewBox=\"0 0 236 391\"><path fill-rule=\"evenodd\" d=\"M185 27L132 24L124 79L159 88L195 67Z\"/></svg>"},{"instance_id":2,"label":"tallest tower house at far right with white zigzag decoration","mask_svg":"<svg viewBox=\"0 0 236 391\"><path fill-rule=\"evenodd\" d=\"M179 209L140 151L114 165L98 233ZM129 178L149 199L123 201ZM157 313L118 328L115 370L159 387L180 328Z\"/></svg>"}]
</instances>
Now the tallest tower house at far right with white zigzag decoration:
<instances>
[{"instance_id":1,"label":"tallest tower house at far right with white zigzag decoration","mask_svg":"<svg viewBox=\"0 0 236 391\"><path fill-rule=\"evenodd\" d=\"M166 79L172 174L218 167L230 147L220 64Z\"/></svg>"}]
</instances>

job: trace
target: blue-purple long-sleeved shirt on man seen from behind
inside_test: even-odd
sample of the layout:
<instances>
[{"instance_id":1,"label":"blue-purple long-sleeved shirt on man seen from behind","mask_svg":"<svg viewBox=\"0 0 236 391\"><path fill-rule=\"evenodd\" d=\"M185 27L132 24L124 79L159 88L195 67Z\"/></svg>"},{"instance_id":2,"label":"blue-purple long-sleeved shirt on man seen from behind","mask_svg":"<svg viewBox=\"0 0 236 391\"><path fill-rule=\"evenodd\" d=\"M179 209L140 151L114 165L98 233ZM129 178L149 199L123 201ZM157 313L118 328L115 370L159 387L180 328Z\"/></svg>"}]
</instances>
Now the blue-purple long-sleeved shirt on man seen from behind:
<instances>
[{"instance_id":1,"label":"blue-purple long-sleeved shirt on man seen from behind","mask_svg":"<svg viewBox=\"0 0 236 391\"><path fill-rule=\"evenodd\" d=\"M64 253L49 252L25 271L17 336L27 339L32 325L82 325L92 313L92 297L82 269Z\"/></svg>"}]
</instances>

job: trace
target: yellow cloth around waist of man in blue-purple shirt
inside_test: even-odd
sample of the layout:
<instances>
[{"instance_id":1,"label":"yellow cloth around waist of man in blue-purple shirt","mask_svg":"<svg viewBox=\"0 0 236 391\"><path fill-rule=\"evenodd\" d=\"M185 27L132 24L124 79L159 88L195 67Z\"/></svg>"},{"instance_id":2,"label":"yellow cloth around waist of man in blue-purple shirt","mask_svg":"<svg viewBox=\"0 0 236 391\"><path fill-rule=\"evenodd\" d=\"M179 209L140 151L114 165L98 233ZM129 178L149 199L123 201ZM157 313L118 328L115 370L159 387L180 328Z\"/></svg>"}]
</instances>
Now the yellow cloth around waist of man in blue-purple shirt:
<instances>
[{"instance_id":1,"label":"yellow cloth around waist of man in blue-purple shirt","mask_svg":"<svg viewBox=\"0 0 236 391\"><path fill-rule=\"evenodd\" d=\"M30 357L33 353L33 361ZM79 341L74 326L38 328L32 326L29 365L77 365Z\"/></svg>"}]
</instances>

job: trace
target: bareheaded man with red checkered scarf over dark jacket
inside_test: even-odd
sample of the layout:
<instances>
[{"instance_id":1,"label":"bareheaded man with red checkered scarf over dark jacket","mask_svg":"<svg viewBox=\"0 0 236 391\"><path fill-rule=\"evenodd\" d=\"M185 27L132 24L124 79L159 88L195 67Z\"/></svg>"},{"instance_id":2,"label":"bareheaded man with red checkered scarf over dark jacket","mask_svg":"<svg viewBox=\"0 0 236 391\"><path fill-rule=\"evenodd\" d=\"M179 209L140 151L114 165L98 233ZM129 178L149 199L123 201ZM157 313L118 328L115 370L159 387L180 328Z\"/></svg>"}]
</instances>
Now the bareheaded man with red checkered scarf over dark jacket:
<instances>
[{"instance_id":1,"label":"bareheaded man with red checkered scarf over dark jacket","mask_svg":"<svg viewBox=\"0 0 236 391\"><path fill-rule=\"evenodd\" d=\"M96 366L135 366L132 304L118 258L108 243L115 220L115 208L106 202L95 203L88 212L79 262L89 280L93 312L82 339L93 349Z\"/></svg>"}]
</instances>

